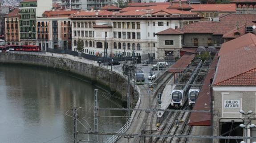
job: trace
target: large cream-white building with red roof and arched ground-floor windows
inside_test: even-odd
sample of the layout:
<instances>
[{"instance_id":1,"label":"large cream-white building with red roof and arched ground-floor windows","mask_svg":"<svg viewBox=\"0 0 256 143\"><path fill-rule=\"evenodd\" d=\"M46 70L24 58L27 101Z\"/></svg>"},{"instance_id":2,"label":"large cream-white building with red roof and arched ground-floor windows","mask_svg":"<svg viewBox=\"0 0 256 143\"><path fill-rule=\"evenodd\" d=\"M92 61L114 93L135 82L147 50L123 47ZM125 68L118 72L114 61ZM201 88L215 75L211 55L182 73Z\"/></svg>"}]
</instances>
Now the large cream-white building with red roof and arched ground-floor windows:
<instances>
[{"instance_id":1,"label":"large cream-white building with red roof and arched ground-floor windows","mask_svg":"<svg viewBox=\"0 0 256 143\"><path fill-rule=\"evenodd\" d=\"M77 40L84 43L86 54L104 52L105 36L108 54L130 56L157 54L155 33L167 28L178 28L183 22L199 21L198 14L179 9L168 9L169 5L128 7L120 12L82 11L70 18L73 22L73 50Z\"/></svg>"}]
</instances>

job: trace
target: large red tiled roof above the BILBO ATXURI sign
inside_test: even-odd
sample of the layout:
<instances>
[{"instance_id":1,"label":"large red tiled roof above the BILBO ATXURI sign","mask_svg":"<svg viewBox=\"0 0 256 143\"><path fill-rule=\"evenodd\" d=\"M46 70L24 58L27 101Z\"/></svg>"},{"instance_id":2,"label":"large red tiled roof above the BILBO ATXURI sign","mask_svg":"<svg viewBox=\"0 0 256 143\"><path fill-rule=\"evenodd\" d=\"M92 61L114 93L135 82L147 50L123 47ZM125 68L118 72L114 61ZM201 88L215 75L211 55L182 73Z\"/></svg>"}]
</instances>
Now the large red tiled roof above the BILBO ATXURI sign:
<instances>
[{"instance_id":1,"label":"large red tiled roof above the BILBO ATXURI sign","mask_svg":"<svg viewBox=\"0 0 256 143\"><path fill-rule=\"evenodd\" d=\"M256 35L248 33L220 48L214 85L256 85Z\"/></svg>"}]
</instances>

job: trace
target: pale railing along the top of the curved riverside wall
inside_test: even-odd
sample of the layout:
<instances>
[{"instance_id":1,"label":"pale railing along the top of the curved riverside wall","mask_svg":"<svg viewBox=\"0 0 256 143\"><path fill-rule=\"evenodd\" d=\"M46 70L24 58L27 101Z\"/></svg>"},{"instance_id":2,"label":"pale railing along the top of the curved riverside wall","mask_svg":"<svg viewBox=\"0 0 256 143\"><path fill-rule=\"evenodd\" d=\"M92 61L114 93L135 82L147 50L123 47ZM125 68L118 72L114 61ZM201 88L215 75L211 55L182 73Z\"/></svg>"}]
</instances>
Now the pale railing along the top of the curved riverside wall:
<instances>
[{"instance_id":1,"label":"pale railing along the top of the curved riverside wall","mask_svg":"<svg viewBox=\"0 0 256 143\"><path fill-rule=\"evenodd\" d=\"M6 53L6 52L5 52ZM52 53L48 53L48 52L17 52L17 51L10 51L8 53L14 53L14 54L30 54L30 55L44 55L44 56L48 56L48 57L57 57L57 58L65 58L65 59L70 59L73 61L77 61L77 62L83 62L83 63L87 63L87 64L92 64L93 66L98 66L107 70L110 70L110 66L103 66L103 65L99 65L97 62L92 61L92 60L88 60L88 59L84 59L84 58L78 58L77 56L72 56L69 54L52 54ZM125 74L123 74L121 71L116 70L116 69L112 69L112 72L119 74L120 76L122 76L123 78L127 79L127 76ZM130 82L132 82L132 80L130 80ZM135 105L135 109L138 109L139 105L140 105L140 101L141 101L141 92L140 89L138 87L138 85L135 85L135 90L138 92L138 101ZM126 124L123 125L122 128L120 128L117 133L125 133L128 128L130 128L130 125L132 123L132 120L134 119L134 116L136 114L137 111L133 111L131 113L130 118L128 119L128 121L126 122ZM117 135L113 135L112 137L110 137L110 139L108 139L106 141L106 143L114 143L116 142L118 139L120 138L120 136Z\"/></svg>"}]
</instances>

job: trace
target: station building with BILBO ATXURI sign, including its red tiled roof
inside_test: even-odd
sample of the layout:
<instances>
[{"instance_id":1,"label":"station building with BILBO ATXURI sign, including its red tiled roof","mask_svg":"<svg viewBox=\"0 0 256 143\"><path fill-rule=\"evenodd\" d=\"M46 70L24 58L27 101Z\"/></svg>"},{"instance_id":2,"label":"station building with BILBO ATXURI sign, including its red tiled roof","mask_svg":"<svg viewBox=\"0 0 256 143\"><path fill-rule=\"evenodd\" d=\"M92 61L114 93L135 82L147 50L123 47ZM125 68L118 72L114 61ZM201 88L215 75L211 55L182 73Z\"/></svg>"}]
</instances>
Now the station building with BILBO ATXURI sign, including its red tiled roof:
<instances>
[{"instance_id":1,"label":"station building with BILBO ATXURI sign, including its red tiled roof","mask_svg":"<svg viewBox=\"0 0 256 143\"><path fill-rule=\"evenodd\" d=\"M212 85L213 135L256 137L256 128L249 128L256 124L256 35L247 33L223 43L218 56ZM240 124L245 124L245 128L240 128ZM215 139L215 143L225 141L228 140Z\"/></svg>"}]
</instances>

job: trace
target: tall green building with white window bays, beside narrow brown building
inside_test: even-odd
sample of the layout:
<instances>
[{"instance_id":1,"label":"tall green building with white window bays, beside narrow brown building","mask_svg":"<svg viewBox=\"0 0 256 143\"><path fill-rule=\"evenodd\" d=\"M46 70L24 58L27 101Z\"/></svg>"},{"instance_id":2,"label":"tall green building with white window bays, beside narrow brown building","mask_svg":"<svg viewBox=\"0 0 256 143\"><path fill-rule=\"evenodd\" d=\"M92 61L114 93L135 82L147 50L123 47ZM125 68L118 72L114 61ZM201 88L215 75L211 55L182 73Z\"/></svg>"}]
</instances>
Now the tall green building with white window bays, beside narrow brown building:
<instances>
[{"instance_id":1,"label":"tall green building with white window bays, beside narrow brown building","mask_svg":"<svg viewBox=\"0 0 256 143\"><path fill-rule=\"evenodd\" d=\"M37 0L20 2L20 42L21 45L36 45L36 11Z\"/></svg>"}]
</instances>

